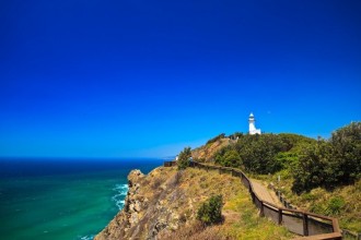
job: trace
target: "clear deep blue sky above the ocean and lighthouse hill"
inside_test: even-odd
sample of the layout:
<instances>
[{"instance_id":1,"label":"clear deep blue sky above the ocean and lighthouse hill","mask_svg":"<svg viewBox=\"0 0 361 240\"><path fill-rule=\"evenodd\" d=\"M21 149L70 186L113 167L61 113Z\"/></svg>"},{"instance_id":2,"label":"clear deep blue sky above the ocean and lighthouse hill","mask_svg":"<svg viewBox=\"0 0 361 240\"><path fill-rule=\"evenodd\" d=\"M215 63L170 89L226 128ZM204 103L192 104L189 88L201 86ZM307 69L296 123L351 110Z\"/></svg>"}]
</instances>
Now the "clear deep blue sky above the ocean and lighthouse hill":
<instances>
[{"instance_id":1,"label":"clear deep blue sky above the ocean and lighthouse hill","mask_svg":"<svg viewBox=\"0 0 361 240\"><path fill-rule=\"evenodd\" d=\"M0 1L0 156L164 157L361 120L361 1Z\"/></svg>"}]
</instances>

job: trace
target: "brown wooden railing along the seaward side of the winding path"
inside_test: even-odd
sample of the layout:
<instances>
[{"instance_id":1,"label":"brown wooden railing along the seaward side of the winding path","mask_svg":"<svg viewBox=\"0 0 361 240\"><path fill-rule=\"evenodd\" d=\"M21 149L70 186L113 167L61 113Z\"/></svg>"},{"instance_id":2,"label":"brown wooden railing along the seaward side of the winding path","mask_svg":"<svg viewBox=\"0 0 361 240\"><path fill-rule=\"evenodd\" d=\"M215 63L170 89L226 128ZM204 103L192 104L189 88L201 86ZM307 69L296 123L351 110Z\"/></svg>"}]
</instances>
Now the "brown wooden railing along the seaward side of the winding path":
<instances>
[{"instance_id":1,"label":"brown wooden railing along the seaward side of the winding path","mask_svg":"<svg viewBox=\"0 0 361 240\"><path fill-rule=\"evenodd\" d=\"M251 180L240 169L206 165L197 161L189 161L189 165L190 167L201 168L207 171L217 170L220 175L231 173L234 177L238 177L242 183L248 189L252 201L259 209L260 216L268 217L276 224L284 226L287 229L294 233L298 233L300 236L310 236L307 238L302 239L342 239L341 230L336 218L304 211L279 207L272 203L261 200L254 191ZM164 163L164 167L172 166L176 166L176 161Z\"/></svg>"}]
</instances>

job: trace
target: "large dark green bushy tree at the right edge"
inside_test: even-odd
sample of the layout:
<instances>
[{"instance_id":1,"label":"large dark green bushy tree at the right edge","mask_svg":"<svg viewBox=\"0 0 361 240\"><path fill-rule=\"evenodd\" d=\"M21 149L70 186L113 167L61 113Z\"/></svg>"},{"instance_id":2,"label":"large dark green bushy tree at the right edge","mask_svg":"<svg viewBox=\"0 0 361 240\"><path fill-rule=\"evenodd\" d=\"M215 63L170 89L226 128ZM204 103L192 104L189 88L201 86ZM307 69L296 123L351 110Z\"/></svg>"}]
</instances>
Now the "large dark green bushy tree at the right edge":
<instances>
[{"instance_id":1,"label":"large dark green bushy tree at the right edge","mask_svg":"<svg viewBox=\"0 0 361 240\"><path fill-rule=\"evenodd\" d=\"M331 190L361 178L361 123L352 122L333 133L330 141L308 145L293 170L296 193L317 187Z\"/></svg>"}]
</instances>

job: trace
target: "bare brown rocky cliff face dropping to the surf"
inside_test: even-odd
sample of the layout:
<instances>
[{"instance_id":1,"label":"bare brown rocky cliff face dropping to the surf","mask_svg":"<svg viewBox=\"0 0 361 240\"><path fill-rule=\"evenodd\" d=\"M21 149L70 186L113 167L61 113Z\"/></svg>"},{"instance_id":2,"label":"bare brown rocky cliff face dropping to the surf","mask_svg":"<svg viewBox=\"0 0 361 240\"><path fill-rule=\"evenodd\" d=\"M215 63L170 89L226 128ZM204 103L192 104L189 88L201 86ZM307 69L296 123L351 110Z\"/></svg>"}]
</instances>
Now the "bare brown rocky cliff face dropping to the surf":
<instances>
[{"instance_id":1,"label":"bare brown rocky cliff face dropping to the surf","mask_svg":"<svg viewBox=\"0 0 361 240\"><path fill-rule=\"evenodd\" d=\"M95 240L156 239L160 231L177 229L185 217L177 203L185 197L179 179L180 173L171 168L156 168L148 176L132 170L124 209Z\"/></svg>"}]
</instances>

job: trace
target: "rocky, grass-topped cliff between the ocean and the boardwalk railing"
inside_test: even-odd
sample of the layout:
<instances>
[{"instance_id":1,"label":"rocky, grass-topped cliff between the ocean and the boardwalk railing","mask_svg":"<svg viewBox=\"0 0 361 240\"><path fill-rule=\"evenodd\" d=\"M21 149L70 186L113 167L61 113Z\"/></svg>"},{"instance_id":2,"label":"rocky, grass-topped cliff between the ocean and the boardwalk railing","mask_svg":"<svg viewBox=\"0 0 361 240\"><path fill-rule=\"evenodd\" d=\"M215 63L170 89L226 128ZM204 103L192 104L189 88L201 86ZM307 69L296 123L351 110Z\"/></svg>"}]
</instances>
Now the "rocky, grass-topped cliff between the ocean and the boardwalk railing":
<instances>
[{"instance_id":1,"label":"rocky, grass-topped cliff between the ocean and the boardwalk railing","mask_svg":"<svg viewBox=\"0 0 361 240\"><path fill-rule=\"evenodd\" d=\"M159 167L149 175L132 170L125 207L100 232L105 239L238 239L243 235L265 235L258 239L288 239L288 231L260 219L240 179L217 171ZM197 211L202 202L222 194L224 223L202 227ZM238 226L244 226L240 228Z\"/></svg>"}]
</instances>

